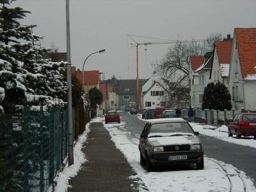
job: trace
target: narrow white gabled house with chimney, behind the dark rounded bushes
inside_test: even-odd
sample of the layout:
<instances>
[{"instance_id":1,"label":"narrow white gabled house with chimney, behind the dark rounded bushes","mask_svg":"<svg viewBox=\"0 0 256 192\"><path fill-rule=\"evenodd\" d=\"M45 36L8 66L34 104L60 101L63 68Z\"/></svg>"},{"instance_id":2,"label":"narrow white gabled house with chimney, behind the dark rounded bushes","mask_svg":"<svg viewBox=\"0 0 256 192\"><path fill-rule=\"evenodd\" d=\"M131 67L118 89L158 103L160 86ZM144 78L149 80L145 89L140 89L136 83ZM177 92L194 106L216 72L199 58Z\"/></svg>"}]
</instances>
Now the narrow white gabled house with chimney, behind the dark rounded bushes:
<instances>
[{"instance_id":1,"label":"narrow white gabled house with chimney, behind the dark rounded bushes","mask_svg":"<svg viewBox=\"0 0 256 192\"><path fill-rule=\"evenodd\" d=\"M215 41L211 63L210 79L216 84L218 81L228 88L228 72L232 50L232 39L230 35L223 41Z\"/></svg>"}]
</instances>

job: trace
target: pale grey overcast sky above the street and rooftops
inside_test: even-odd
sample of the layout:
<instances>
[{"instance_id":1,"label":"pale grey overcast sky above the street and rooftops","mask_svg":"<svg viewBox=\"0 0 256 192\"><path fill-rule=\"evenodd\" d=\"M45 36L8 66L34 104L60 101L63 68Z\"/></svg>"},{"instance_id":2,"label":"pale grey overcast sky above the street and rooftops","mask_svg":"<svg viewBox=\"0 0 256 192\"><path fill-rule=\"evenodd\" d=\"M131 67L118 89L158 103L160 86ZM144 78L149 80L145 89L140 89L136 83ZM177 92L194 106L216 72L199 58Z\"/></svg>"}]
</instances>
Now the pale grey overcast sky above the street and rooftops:
<instances>
[{"instance_id":1,"label":"pale grey overcast sky above the street and rooftops","mask_svg":"<svg viewBox=\"0 0 256 192\"><path fill-rule=\"evenodd\" d=\"M22 24L36 24L36 35L45 36L41 44L67 52L66 1L17 0L8 7L29 10ZM234 28L255 28L255 0L70 0L71 63L82 70L86 57L93 54L84 70L105 72L106 79L136 79L138 42L205 39L211 33L228 33ZM150 37L142 38L140 36ZM152 61L160 60L173 44L139 46L139 78L152 76ZM147 49L147 51L145 51Z\"/></svg>"}]
</instances>

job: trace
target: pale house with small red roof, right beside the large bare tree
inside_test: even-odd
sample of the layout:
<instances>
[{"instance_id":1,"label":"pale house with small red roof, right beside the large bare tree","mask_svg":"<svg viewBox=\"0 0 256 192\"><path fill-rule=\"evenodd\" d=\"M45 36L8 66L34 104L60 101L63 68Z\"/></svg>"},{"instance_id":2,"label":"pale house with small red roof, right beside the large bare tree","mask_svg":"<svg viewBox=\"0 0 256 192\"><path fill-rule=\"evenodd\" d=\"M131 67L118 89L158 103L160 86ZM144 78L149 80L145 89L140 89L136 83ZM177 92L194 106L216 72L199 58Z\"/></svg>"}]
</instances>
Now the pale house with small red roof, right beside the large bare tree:
<instances>
[{"instance_id":1,"label":"pale house with small red roof, right beside the large bare tree","mask_svg":"<svg viewBox=\"0 0 256 192\"><path fill-rule=\"evenodd\" d=\"M189 100L192 108L202 108L204 88L211 82L211 61L212 52L206 52L204 56L190 56Z\"/></svg>"}]
</instances>

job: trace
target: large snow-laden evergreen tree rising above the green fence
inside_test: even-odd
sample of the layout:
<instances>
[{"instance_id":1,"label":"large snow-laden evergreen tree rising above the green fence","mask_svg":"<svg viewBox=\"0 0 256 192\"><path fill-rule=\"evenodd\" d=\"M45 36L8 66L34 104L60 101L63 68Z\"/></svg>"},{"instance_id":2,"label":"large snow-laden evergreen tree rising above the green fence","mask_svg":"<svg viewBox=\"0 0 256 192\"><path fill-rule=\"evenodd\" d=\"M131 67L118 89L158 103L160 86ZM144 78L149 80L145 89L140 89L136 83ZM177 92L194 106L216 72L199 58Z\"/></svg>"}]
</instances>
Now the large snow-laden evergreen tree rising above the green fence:
<instances>
[{"instance_id":1,"label":"large snow-laden evergreen tree rising above the green fence","mask_svg":"<svg viewBox=\"0 0 256 192\"><path fill-rule=\"evenodd\" d=\"M64 62L42 60L51 49L35 48L43 36L33 34L35 25L21 25L26 17L21 7L0 8L0 112L16 113L23 106L58 106L67 92L67 82L60 74ZM19 110L18 110L19 111Z\"/></svg>"}]
</instances>

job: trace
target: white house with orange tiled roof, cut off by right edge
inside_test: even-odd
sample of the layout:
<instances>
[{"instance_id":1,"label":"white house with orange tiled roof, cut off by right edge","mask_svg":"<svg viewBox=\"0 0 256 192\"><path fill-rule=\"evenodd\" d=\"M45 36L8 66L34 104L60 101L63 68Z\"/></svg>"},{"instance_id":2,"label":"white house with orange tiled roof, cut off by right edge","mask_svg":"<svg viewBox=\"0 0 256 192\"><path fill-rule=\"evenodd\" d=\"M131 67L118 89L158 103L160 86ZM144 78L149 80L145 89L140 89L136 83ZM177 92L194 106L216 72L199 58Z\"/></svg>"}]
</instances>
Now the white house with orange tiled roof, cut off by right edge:
<instances>
[{"instance_id":1,"label":"white house with orange tiled roof, cut off by right edge","mask_svg":"<svg viewBox=\"0 0 256 192\"><path fill-rule=\"evenodd\" d=\"M228 87L232 108L256 111L256 28L235 28Z\"/></svg>"}]
</instances>

